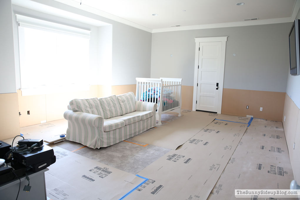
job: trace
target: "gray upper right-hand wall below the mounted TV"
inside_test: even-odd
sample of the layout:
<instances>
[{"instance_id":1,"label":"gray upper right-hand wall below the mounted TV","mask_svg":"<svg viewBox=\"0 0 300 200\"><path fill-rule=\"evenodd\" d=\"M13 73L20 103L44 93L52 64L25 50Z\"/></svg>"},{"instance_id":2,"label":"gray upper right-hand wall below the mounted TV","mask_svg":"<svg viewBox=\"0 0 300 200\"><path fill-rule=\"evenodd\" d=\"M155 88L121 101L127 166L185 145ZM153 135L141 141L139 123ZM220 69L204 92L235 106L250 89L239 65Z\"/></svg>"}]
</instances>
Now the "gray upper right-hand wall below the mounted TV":
<instances>
[{"instance_id":1,"label":"gray upper right-hand wall below the mounted TV","mask_svg":"<svg viewBox=\"0 0 300 200\"><path fill-rule=\"evenodd\" d=\"M300 19L300 11L298 12L296 19ZM291 28L290 25L289 28ZM289 66L289 65L288 65ZM293 102L298 106L300 109L300 75L299 76L291 76L289 74L289 68L287 67L286 70L287 74L287 85L286 85L286 94L291 97Z\"/></svg>"}]
</instances>

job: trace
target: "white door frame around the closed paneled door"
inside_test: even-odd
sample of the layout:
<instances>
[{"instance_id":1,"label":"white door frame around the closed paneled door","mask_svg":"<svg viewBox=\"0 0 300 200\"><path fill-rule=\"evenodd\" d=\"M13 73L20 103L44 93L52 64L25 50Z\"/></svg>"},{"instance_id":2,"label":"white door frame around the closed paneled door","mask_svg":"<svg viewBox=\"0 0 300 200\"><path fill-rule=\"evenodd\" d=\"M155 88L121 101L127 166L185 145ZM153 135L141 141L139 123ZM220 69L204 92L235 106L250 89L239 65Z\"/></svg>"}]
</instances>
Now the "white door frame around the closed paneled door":
<instances>
[{"instance_id":1,"label":"white door frame around the closed paneled door","mask_svg":"<svg viewBox=\"0 0 300 200\"><path fill-rule=\"evenodd\" d=\"M199 64L199 43L200 42L222 42L221 45L221 63L220 63L220 80L219 80L219 96L217 113L221 113L222 96L223 96L223 82L224 82L224 68L225 68L225 50L226 50L227 36L224 37L196 37L195 43L195 70L194 70L194 89L193 89L193 111L196 111L197 99L197 82L198 82L198 64Z\"/></svg>"}]
</instances>

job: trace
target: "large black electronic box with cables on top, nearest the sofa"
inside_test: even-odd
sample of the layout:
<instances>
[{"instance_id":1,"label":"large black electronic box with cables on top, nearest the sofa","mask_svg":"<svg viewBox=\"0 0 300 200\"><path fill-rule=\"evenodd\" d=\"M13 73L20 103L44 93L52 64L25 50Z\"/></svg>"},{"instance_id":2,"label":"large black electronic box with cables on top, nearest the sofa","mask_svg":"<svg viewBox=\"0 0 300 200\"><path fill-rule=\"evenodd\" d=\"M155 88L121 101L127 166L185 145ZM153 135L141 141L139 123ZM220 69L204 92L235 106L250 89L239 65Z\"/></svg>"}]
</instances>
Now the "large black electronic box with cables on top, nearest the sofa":
<instances>
[{"instance_id":1,"label":"large black electronic box with cables on top, nearest the sofa","mask_svg":"<svg viewBox=\"0 0 300 200\"><path fill-rule=\"evenodd\" d=\"M13 153L13 162L24 167L30 167L33 172L39 172L55 163L56 157L51 147L44 145L33 149L30 153Z\"/></svg>"}]
</instances>

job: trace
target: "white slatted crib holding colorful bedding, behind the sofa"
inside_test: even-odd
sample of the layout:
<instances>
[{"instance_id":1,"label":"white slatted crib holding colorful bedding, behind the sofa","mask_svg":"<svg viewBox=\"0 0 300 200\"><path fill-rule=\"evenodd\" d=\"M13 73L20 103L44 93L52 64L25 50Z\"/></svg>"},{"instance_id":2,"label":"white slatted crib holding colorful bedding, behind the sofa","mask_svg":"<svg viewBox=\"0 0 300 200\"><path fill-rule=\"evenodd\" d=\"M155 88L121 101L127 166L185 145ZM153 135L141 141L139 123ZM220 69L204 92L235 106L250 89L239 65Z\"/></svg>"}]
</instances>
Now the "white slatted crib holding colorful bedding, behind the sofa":
<instances>
[{"instance_id":1,"label":"white slatted crib holding colorful bedding, behind the sofa","mask_svg":"<svg viewBox=\"0 0 300 200\"><path fill-rule=\"evenodd\" d=\"M181 83L182 79L176 78L136 78L137 101L148 101L158 104L156 119L161 124L161 114L170 110L178 109L181 116Z\"/></svg>"}]
</instances>

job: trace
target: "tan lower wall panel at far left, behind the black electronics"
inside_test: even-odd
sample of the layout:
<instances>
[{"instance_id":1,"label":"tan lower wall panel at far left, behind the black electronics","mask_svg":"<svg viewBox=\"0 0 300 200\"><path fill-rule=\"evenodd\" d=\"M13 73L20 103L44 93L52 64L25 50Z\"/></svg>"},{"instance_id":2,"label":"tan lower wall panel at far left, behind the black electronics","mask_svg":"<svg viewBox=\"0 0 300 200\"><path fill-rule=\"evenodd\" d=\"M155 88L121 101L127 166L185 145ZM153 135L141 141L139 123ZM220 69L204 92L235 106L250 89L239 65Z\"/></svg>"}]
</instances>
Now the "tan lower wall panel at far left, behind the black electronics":
<instances>
[{"instance_id":1,"label":"tan lower wall panel at far left, behind the black electronics","mask_svg":"<svg viewBox=\"0 0 300 200\"><path fill-rule=\"evenodd\" d=\"M0 140L20 134L18 94L0 94Z\"/></svg>"}]
</instances>

